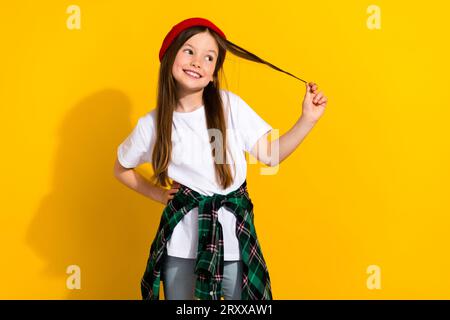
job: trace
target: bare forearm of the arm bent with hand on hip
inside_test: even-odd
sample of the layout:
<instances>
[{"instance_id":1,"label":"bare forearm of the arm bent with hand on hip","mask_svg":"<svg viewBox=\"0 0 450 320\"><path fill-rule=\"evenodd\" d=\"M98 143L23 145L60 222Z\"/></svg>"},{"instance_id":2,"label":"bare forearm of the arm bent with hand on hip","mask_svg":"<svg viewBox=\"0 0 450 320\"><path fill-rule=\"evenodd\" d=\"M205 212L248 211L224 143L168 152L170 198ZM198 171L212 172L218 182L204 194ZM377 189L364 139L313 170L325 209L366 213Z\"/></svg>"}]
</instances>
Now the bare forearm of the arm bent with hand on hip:
<instances>
[{"instance_id":1,"label":"bare forearm of the arm bent with hand on hip","mask_svg":"<svg viewBox=\"0 0 450 320\"><path fill-rule=\"evenodd\" d=\"M164 189L154 185L136 170L121 170L120 172L117 172L115 176L128 188L154 201L161 202L161 194Z\"/></svg>"}]
</instances>

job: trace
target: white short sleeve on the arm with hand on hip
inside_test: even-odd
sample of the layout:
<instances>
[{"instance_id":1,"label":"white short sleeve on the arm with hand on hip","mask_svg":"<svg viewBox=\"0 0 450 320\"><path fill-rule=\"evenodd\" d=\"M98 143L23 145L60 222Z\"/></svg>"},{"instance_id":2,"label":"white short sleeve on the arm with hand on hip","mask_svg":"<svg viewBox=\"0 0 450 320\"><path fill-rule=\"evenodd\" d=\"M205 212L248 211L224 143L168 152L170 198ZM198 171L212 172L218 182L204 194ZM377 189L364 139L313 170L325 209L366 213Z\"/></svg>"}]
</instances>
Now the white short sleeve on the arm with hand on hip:
<instances>
[{"instance_id":1,"label":"white short sleeve on the arm with hand on hip","mask_svg":"<svg viewBox=\"0 0 450 320\"><path fill-rule=\"evenodd\" d=\"M151 162L154 145L154 125L149 114L139 118L129 136L117 148L117 158L125 168L135 168Z\"/></svg>"}]
</instances>

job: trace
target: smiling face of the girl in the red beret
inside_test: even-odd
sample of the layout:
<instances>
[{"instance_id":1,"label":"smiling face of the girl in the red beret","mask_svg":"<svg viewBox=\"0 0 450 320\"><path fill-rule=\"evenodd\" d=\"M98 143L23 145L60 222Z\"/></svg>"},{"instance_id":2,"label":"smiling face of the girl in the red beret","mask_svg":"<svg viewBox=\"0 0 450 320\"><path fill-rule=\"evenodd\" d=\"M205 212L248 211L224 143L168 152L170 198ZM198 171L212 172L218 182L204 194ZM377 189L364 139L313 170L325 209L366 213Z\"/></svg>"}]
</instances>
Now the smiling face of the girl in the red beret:
<instances>
[{"instance_id":1,"label":"smiling face of the girl in the red beret","mask_svg":"<svg viewBox=\"0 0 450 320\"><path fill-rule=\"evenodd\" d=\"M172 67L179 89L198 91L213 81L218 53L217 42L208 31L189 38L178 50Z\"/></svg>"}]
</instances>

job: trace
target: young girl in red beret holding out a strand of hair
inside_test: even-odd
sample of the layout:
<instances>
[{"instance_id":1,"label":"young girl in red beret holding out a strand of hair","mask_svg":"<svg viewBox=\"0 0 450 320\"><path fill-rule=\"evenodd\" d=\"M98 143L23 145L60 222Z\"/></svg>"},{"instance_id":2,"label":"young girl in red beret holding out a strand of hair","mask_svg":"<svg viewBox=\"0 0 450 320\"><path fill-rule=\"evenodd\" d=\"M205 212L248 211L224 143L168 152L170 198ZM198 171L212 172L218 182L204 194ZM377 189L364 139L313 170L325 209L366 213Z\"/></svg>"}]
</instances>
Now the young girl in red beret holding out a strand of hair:
<instances>
[{"instance_id":1,"label":"young girl in red beret holding out a strand of hair","mask_svg":"<svg viewBox=\"0 0 450 320\"><path fill-rule=\"evenodd\" d=\"M166 299L272 299L244 152L276 166L313 128L327 98L307 84L301 117L269 142L272 127L220 89L226 51L285 72L227 40L211 21L186 19L159 51L156 109L118 147L119 181L165 205L141 281L143 299L159 299L160 280ZM145 162L152 163L152 181L134 170Z\"/></svg>"}]
</instances>

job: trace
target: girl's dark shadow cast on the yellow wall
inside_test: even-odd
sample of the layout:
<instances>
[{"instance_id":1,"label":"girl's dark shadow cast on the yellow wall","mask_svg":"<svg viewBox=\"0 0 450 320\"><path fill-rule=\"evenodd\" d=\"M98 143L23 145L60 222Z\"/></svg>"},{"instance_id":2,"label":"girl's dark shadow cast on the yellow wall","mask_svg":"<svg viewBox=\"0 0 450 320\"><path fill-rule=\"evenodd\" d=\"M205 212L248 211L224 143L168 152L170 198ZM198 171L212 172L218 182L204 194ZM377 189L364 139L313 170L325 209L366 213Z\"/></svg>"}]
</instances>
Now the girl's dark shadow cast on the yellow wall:
<instances>
[{"instance_id":1,"label":"girl's dark shadow cast on the yellow wall","mask_svg":"<svg viewBox=\"0 0 450 320\"><path fill-rule=\"evenodd\" d=\"M128 97L108 89L81 100L61 123L52 191L30 224L27 244L47 263L42 276L59 278L67 299L141 299L164 206L114 177L117 147L135 125L130 116ZM149 164L138 170L151 174ZM81 289L66 286L70 265L81 269Z\"/></svg>"}]
</instances>

